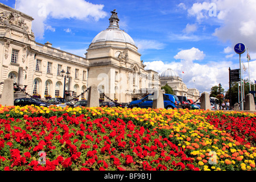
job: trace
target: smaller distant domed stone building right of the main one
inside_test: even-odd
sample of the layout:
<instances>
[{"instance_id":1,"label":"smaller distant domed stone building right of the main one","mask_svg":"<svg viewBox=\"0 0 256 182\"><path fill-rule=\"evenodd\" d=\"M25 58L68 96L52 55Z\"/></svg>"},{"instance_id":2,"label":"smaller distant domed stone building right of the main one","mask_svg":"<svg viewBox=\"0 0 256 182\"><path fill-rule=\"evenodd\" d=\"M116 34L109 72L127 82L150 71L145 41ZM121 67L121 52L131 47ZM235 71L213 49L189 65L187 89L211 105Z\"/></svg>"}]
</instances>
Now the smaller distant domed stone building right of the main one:
<instances>
[{"instance_id":1,"label":"smaller distant domed stone building right of the main one","mask_svg":"<svg viewBox=\"0 0 256 182\"><path fill-rule=\"evenodd\" d=\"M196 88L189 89L184 84L182 78L173 69L167 69L160 75L160 85L164 86L168 84L174 90L176 96L186 96L188 99L196 101L200 97L199 90Z\"/></svg>"}]
</instances>

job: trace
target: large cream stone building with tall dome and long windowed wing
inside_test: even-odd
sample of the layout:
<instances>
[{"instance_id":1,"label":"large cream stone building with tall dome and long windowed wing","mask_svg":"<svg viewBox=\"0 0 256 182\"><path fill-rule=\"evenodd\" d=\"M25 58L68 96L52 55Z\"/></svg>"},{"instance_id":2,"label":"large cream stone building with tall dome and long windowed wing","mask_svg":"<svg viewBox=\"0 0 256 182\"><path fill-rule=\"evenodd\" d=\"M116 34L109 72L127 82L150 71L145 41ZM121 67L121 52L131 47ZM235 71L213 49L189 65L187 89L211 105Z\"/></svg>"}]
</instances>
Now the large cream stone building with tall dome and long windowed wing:
<instances>
[{"instance_id":1,"label":"large cream stone building with tall dome and long windowed wing","mask_svg":"<svg viewBox=\"0 0 256 182\"><path fill-rule=\"evenodd\" d=\"M0 81L11 78L26 87L28 94L63 97L65 90L75 98L96 85L100 97L118 102L137 100L160 88L159 75L146 67L134 40L119 29L112 11L109 27L92 40L85 57L35 42L33 18L0 3ZM20 69L21 68L21 69ZM21 70L22 73L19 73ZM69 72L64 81L61 71ZM65 82L65 85L64 85ZM2 93L3 86L0 85ZM65 88L65 89L64 89Z\"/></svg>"}]
</instances>

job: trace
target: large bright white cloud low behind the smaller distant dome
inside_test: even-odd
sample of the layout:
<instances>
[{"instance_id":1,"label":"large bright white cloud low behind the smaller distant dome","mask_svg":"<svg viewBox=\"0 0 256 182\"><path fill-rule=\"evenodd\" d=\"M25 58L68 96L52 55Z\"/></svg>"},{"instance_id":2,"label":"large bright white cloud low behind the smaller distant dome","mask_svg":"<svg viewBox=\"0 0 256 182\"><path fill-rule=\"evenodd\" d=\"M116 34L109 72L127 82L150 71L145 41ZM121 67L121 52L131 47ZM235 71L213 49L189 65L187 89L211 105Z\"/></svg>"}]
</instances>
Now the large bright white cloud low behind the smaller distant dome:
<instances>
[{"instance_id":1,"label":"large bright white cloud low behind the smaller distant dome","mask_svg":"<svg viewBox=\"0 0 256 182\"><path fill-rule=\"evenodd\" d=\"M225 90L228 90L228 68L236 68L237 65L233 65L231 61L208 61L205 64L193 62L195 60L204 60L205 57L206 55L203 51L193 47L178 52L174 58L179 61L170 61L168 63L164 63L163 61L152 61L145 62L144 64L146 65L146 69L154 69L159 72L159 74L168 68L174 69L179 73L179 76L183 78L183 82L188 88L194 87L195 80L195 87L199 89L200 92L210 93L212 86L218 85L220 82ZM256 65L254 71L256 71ZM181 74L182 72L184 72L184 74Z\"/></svg>"}]
</instances>

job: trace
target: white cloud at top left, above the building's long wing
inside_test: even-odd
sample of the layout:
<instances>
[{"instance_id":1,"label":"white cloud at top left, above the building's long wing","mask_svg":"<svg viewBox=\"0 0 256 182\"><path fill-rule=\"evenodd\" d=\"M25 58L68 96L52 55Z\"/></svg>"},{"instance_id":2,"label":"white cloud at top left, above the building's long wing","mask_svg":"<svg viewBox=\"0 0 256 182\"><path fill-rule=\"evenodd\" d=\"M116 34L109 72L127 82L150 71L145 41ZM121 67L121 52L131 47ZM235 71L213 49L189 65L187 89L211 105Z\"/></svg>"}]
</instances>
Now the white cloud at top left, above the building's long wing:
<instances>
[{"instance_id":1,"label":"white cloud at top left, above the building's long wing","mask_svg":"<svg viewBox=\"0 0 256 182\"><path fill-rule=\"evenodd\" d=\"M32 31L36 38L43 39L44 30L47 26L48 18L64 19L74 18L88 20L90 18L98 20L107 14L103 11L104 5L94 5L84 0L20 0L17 1L16 9L34 18Z\"/></svg>"}]
</instances>

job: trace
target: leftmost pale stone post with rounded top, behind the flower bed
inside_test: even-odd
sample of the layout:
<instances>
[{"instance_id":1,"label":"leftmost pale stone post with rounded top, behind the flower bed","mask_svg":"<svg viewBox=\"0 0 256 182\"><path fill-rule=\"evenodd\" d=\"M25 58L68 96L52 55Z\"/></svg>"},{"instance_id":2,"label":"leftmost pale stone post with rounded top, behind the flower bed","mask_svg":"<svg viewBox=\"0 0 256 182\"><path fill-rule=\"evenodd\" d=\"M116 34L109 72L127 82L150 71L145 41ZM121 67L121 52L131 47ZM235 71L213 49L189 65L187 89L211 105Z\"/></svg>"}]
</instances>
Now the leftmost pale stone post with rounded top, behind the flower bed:
<instances>
[{"instance_id":1,"label":"leftmost pale stone post with rounded top, behind the flower bed","mask_svg":"<svg viewBox=\"0 0 256 182\"><path fill-rule=\"evenodd\" d=\"M1 98L1 104L3 106L13 106L14 105L14 94L13 94L13 80L7 78L3 84L3 93Z\"/></svg>"}]
</instances>

